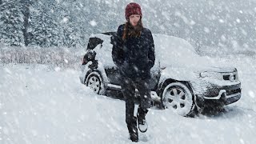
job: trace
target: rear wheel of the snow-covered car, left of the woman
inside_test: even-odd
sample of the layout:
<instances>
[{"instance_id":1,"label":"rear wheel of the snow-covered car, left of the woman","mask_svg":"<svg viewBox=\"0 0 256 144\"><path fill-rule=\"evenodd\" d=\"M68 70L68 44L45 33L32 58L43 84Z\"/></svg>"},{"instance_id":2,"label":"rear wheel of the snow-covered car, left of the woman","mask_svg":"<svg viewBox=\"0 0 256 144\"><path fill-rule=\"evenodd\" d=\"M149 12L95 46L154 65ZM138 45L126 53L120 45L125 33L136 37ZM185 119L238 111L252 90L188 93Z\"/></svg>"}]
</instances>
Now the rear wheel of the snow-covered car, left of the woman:
<instances>
[{"instance_id":1,"label":"rear wheel of the snow-covered car, left of the woman","mask_svg":"<svg viewBox=\"0 0 256 144\"><path fill-rule=\"evenodd\" d=\"M91 90L94 90L96 94L105 94L106 88L102 81L102 76L96 71L91 72L86 77L85 81L86 86L90 87Z\"/></svg>"}]
</instances>

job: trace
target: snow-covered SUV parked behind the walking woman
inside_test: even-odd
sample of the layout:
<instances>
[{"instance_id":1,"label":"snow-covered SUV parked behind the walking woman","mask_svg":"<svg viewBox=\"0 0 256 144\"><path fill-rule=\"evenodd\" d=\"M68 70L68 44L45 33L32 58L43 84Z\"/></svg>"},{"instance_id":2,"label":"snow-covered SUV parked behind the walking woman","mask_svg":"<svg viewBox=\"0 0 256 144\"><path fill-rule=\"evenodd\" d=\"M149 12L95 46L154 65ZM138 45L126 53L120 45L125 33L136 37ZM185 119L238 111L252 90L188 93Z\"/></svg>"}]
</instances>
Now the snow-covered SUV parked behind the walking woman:
<instances>
[{"instance_id":1,"label":"snow-covered SUV parked behind the walking woman","mask_svg":"<svg viewBox=\"0 0 256 144\"><path fill-rule=\"evenodd\" d=\"M121 90L120 74L111 58L115 32L92 34L82 63L80 81L96 94ZM153 34L156 60L151 69L151 95L163 108L182 116L205 107L223 107L241 98L234 67L219 66L199 56L182 38ZM196 109L197 108L197 109Z\"/></svg>"}]
</instances>

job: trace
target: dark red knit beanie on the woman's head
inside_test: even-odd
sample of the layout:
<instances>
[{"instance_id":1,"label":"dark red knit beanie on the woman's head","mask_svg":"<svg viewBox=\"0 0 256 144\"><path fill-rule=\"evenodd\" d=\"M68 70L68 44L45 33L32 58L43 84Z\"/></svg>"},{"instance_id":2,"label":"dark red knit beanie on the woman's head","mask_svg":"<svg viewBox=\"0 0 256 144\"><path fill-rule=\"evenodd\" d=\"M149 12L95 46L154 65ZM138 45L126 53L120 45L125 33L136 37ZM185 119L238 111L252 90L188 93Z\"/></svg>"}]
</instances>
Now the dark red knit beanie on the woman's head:
<instances>
[{"instance_id":1,"label":"dark red knit beanie on the woman's head","mask_svg":"<svg viewBox=\"0 0 256 144\"><path fill-rule=\"evenodd\" d=\"M141 6L138 5L138 3L130 2L126 6L126 20L129 20L130 15L138 14L142 17L142 9Z\"/></svg>"}]
</instances>

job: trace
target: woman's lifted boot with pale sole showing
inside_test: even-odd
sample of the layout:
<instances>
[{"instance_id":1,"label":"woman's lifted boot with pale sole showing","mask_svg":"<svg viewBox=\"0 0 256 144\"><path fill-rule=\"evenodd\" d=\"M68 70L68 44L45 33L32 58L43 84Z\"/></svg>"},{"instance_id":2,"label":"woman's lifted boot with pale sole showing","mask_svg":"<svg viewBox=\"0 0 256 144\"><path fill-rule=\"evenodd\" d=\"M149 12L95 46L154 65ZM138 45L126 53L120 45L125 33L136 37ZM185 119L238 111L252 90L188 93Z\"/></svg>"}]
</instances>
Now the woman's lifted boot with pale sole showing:
<instances>
[{"instance_id":1,"label":"woman's lifted boot with pale sole showing","mask_svg":"<svg viewBox=\"0 0 256 144\"><path fill-rule=\"evenodd\" d=\"M140 130L142 133L145 133L147 130L147 122L146 122L146 113L148 110L142 110L142 108L138 107L138 130Z\"/></svg>"}]
</instances>

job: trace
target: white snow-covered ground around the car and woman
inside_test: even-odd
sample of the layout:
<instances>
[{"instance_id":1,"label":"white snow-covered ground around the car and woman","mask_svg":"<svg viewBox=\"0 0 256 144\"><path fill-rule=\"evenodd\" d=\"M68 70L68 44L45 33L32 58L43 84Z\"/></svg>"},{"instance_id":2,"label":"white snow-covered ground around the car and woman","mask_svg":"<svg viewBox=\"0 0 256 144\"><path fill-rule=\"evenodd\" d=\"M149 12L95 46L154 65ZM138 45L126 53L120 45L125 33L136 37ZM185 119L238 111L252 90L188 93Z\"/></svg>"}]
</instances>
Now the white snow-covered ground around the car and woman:
<instances>
[{"instance_id":1,"label":"white snow-covered ground around the car and woman","mask_svg":"<svg viewBox=\"0 0 256 144\"><path fill-rule=\"evenodd\" d=\"M214 116L152 108L139 143L256 143L256 58L210 58L238 68L242 98ZM131 143L125 102L94 94L77 70L0 66L0 143Z\"/></svg>"}]
</instances>

